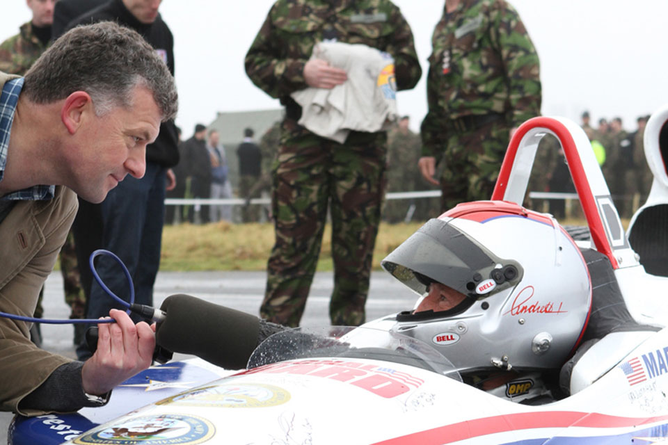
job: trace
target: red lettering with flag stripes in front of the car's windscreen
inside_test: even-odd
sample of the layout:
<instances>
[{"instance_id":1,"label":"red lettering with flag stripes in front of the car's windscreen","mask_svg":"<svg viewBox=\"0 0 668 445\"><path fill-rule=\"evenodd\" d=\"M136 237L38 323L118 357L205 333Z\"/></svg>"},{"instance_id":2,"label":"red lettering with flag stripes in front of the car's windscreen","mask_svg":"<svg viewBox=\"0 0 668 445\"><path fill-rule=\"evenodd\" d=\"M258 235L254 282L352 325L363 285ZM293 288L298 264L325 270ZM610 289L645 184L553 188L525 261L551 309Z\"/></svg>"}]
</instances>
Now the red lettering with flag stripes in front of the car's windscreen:
<instances>
[{"instance_id":1,"label":"red lettering with flag stripes in front of the car's windscreen","mask_svg":"<svg viewBox=\"0 0 668 445\"><path fill-rule=\"evenodd\" d=\"M260 366L246 371L244 374L270 373L308 375L310 377L326 378L345 382L349 385L365 389L366 391L384 398L400 396L411 387L418 388L424 380L396 369L376 366L360 362L346 362L337 359L300 360L299 362L281 362Z\"/></svg>"}]
</instances>

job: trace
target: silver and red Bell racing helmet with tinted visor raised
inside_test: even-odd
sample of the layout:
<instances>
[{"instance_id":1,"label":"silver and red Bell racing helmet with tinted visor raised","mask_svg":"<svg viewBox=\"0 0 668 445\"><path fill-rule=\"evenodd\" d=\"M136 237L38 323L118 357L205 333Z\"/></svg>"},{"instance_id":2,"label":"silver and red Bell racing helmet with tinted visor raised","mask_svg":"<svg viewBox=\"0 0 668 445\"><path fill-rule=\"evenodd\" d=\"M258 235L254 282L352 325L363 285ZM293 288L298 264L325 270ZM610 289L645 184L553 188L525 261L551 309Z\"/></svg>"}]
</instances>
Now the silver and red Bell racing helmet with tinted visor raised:
<instances>
[{"instance_id":1,"label":"silver and red Bell racing helmet with tinted visor raised","mask_svg":"<svg viewBox=\"0 0 668 445\"><path fill-rule=\"evenodd\" d=\"M551 215L510 202L459 204L381 265L420 295L392 330L434 346L460 372L557 369L589 319L591 280L578 246ZM461 301L416 311L434 283Z\"/></svg>"}]
</instances>

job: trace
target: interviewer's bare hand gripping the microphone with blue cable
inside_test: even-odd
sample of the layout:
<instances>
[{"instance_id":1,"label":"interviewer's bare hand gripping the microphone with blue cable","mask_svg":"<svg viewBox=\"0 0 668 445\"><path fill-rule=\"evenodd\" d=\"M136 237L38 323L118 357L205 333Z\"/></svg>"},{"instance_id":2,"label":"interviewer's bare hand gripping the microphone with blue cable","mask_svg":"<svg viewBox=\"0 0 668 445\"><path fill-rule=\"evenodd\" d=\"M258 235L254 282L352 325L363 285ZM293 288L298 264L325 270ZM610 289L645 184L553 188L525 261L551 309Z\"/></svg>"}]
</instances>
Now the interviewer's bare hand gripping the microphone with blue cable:
<instances>
[{"instance_id":1,"label":"interviewer's bare hand gripping the microphone with blue cable","mask_svg":"<svg viewBox=\"0 0 668 445\"><path fill-rule=\"evenodd\" d=\"M97 350L81 369L81 379L87 394L100 396L152 362L155 348L155 325L134 321L118 309L111 309L116 323L100 323Z\"/></svg>"}]
</instances>

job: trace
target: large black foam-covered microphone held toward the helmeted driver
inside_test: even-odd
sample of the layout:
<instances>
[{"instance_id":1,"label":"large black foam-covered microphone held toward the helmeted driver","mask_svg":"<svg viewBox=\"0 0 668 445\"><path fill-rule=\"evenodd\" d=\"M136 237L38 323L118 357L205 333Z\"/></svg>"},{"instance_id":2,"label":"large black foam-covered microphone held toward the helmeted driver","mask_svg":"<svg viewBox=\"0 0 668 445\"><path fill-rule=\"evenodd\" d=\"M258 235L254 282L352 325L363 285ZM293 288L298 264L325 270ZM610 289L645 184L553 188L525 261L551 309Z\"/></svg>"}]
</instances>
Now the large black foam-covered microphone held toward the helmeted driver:
<instances>
[{"instance_id":1,"label":"large black foam-covered microphone held toward the helmeted driver","mask_svg":"<svg viewBox=\"0 0 668 445\"><path fill-rule=\"evenodd\" d=\"M184 294L168 296L160 307L158 346L196 355L225 369L246 368L260 343L260 318Z\"/></svg>"}]
</instances>

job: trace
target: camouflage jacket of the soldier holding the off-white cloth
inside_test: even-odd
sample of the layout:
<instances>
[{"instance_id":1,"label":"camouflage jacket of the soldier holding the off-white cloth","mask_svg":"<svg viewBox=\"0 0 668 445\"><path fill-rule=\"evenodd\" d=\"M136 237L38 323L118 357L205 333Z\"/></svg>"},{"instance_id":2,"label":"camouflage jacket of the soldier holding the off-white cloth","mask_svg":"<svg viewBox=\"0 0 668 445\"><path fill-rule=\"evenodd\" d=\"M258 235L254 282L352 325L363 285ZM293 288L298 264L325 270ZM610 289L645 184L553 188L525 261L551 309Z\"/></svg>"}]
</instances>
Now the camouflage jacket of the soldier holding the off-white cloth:
<instances>
[{"instance_id":1,"label":"camouflage jacket of the soldier holding the off-white cloth","mask_svg":"<svg viewBox=\"0 0 668 445\"><path fill-rule=\"evenodd\" d=\"M397 89L420 80L413 33L401 11L389 0L278 0L269 10L246 54L250 80L271 97L289 102L303 90L304 65L317 42L335 39L361 43L395 58Z\"/></svg>"}]
</instances>

